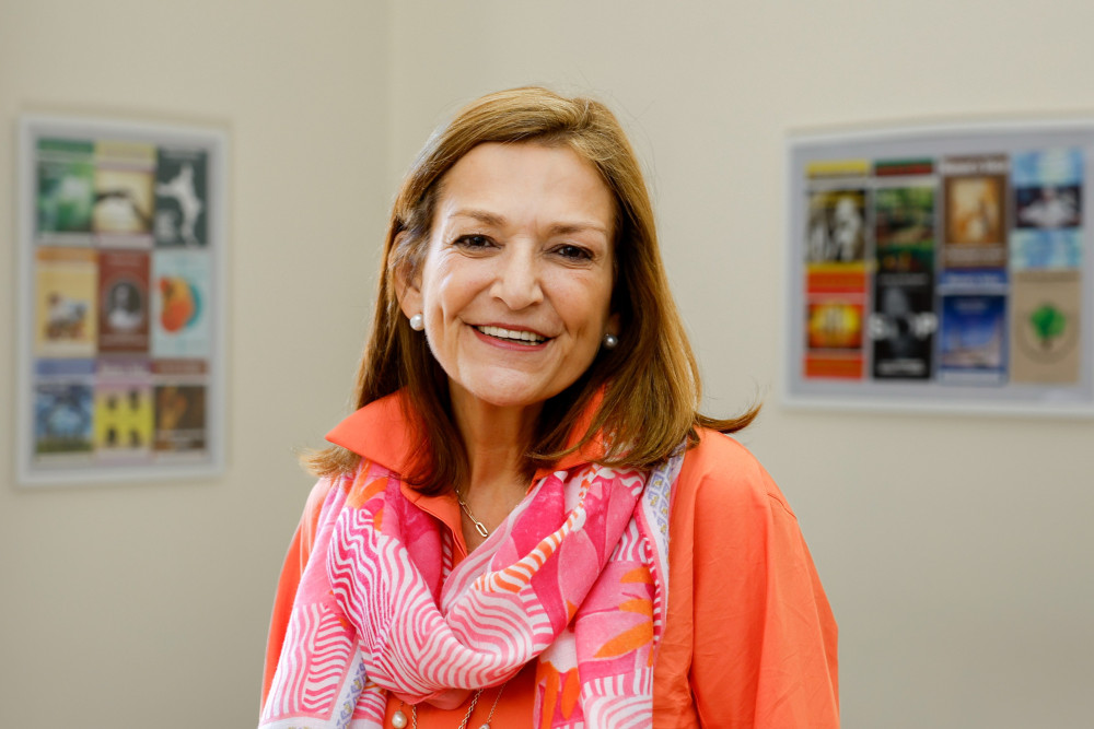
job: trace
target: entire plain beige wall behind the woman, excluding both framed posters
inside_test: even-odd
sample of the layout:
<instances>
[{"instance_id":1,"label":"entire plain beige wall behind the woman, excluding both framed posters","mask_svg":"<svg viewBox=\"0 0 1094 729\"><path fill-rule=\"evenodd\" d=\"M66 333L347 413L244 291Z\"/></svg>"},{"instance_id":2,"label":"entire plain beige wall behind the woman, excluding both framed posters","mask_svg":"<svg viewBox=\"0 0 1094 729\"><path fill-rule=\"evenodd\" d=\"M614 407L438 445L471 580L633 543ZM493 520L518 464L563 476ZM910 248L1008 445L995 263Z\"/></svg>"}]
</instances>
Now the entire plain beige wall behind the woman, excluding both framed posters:
<instances>
[{"instance_id":1,"label":"entire plain beige wall behind the woman, excluding both framed posters","mask_svg":"<svg viewBox=\"0 0 1094 729\"><path fill-rule=\"evenodd\" d=\"M1094 424L793 412L778 377L787 131L1090 114L1092 26L1090 3L1033 0L0 0L0 169L20 111L212 124L232 145L229 471L0 487L0 726L253 724L306 489L290 451L341 412L383 208L435 121L529 82L620 111L709 409L766 399L743 439L795 507L840 621L845 726L1086 726ZM142 61L176 50L195 57ZM11 188L0 174L3 221ZM8 355L0 403L13 388Z\"/></svg>"}]
</instances>

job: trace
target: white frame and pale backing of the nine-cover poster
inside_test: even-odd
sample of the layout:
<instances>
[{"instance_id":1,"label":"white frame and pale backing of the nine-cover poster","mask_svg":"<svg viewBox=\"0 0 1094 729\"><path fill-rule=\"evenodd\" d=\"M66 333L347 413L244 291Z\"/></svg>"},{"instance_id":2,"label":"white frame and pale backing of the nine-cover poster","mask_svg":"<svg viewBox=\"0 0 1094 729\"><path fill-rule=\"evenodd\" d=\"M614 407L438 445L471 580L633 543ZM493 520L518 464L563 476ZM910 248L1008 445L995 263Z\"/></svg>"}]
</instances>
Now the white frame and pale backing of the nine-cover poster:
<instances>
[{"instance_id":1,"label":"white frame and pale backing of the nine-cover poster","mask_svg":"<svg viewBox=\"0 0 1094 729\"><path fill-rule=\"evenodd\" d=\"M79 456L65 462L65 458L39 457L36 455L36 378L42 377L40 363L36 362L35 345L36 326L39 313L37 306L39 302L36 296L36 285L39 278L39 256L40 248L63 248L69 244L63 242L53 242L42 244L38 240L38 142L42 139L51 140L82 140L92 144L98 141L120 142L121 144L146 144L152 145L155 153L162 150L184 150L196 151L201 155L205 164L203 181L205 198L201 200L203 209L198 213L198 217L205 215L201 234L203 239L190 247L190 249L202 249L202 252L195 256L201 260L202 270L207 271L201 287L201 326L202 337L206 342L202 344L203 353L200 356L203 373L199 375L200 386L194 389L201 389L201 427L203 433L196 443L198 446L188 445L179 447L177 452L158 452L159 447L148 443L143 446L147 454L137 457L107 458L106 454L95 450L92 446L89 456ZM198 127L188 125L171 125L162 122L144 122L120 119L107 119L86 116L61 116L61 115L39 115L23 114L19 118L18 125L18 154L16 154L16 228L18 228L18 261L19 272L16 317L18 317L18 346L16 349L16 403L15 403L15 480L20 486L58 486L58 485L109 485L116 483L132 482L155 482L165 480L194 480L214 478L224 471L226 462L226 324L228 324L228 133L223 129L216 127ZM96 153L97 154L97 153ZM154 171L151 173L154 176ZM153 190L155 179L152 180ZM96 183L97 184L97 183ZM161 195L153 191L153 196ZM154 212L154 211L153 211ZM184 215L185 217L185 215ZM51 231L50 231L51 233ZM86 242L71 244L73 248L86 248L100 250L103 246L98 236L103 234L91 233ZM152 233L143 234L144 237L154 238ZM123 238L124 236L117 236ZM196 240L196 238L194 238ZM114 245L112 243L112 245ZM128 244L118 244L125 248ZM179 248L185 249L182 245ZM133 250L148 250L149 263L152 266L152 251L159 248L154 243L136 244ZM185 251L176 254L178 258L185 259ZM97 258L95 259L98 260ZM97 262L95 263L98 275ZM144 292L146 316L152 318L152 283L151 272L146 282L148 290ZM101 292L98 292L101 294ZM151 325L146 325L151 327ZM149 349L147 355L148 363L144 365L151 372L151 330L147 334ZM40 346L40 345L39 345ZM97 346L97 344L96 344ZM177 356L187 356L181 354ZM94 363L94 377L98 377L102 369L100 352L96 349L91 356ZM37 373L37 374L36 374ZM158 393L153 381L163 381L163 378L155 380L154 375L148 383L142 385L148 408L152 408L152 397ZM170 379L170 376L168 376ZM98 381L97 379L95 380ZM183 377L179 381L185 383ZM185 385L178 390L185 389ZM93 389L94 392L94 389ZM187 397L194 397L193 390ZM185 397L184 397L185 399ZM193 404L193 400L189 404ZM136 405L133 405L136 408ZM142 407L144 407L142 404ZM97 408L92 404L92 408ZM159 438L159 424L151 425L152 437ZM97 437L97 436L95 436ZM137 452L137 451L133 451Z\"/></svg>"}]
</instances>

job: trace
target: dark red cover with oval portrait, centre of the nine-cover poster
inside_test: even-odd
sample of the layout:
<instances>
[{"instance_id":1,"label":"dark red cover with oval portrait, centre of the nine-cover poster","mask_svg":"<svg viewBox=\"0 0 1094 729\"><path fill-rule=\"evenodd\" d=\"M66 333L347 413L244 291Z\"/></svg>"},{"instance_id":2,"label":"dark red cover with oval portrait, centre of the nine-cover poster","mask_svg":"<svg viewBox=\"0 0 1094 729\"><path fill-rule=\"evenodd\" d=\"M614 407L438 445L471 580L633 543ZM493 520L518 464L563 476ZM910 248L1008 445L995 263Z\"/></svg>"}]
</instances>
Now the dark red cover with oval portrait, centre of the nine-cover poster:
<instances>
[{"instance_id":1,"label":"dark red cover with oval portrait, centre of the nine-cover poster","mask_svg":"<svg viewBox=\"0 0 1094 729\"><path fill-rule=\"evenodd\" d=\"M98 350L148 352L149 254L102 250L98 254Z\"/></svg>"}]
</instances>

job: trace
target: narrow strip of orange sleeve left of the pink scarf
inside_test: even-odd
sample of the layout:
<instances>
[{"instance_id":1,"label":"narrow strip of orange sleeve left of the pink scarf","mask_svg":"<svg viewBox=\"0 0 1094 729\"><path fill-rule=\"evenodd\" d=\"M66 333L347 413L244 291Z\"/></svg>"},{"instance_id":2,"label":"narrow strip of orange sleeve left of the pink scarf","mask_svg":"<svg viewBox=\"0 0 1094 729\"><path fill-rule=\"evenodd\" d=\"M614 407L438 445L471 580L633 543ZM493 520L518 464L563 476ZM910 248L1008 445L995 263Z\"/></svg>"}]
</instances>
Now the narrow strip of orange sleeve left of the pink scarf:
<instances>
[{"instance_id":1,"label":"narrow strip of orange sleeve left of the pink scarf","mask_svg":"<svg viewBox=\"0 0 1094 729\"><path fill-rule=\"evenodd\" d=\"M284 644L284 634L289 628L289 616L292 614L292 603L296 599L300 576L312 554L319 512L323 510L323 503L326 501L333 484L334 479L326 478L321 479L312 487L307 502L304 504L304 513L300 517L300 524L289 543L289 551L286 552L284 563L281 565L281 575L278 577L277 593L274 598L274 612L270 615L270 628L266 637L266 666L263 670L263 695L259 707L266 705L270 684L274 683L274 673L277 671L278 660L281 658L281 646Z\"/></svg>"}]
</instances>

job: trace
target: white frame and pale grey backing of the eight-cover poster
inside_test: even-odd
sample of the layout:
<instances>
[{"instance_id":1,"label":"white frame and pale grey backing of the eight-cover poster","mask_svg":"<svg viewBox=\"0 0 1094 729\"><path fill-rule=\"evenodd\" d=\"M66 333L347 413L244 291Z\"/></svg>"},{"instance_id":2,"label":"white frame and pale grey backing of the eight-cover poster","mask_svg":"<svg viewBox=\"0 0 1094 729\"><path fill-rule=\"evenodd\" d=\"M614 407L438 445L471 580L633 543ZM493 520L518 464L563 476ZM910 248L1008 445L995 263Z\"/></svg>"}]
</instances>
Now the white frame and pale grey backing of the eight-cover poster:
<instances>
[{"instance_id":1,"label":"white frame and pale grey backing of the eight-cover poster","mask_svg":"<svg viewBox=\"0 0 1094 729\"><path fill-rule=\"evenodd\" d=\"M1074 383L942 384L932 369L928 381L878 381L863 365L862 378L841 379L805 375L807 284L806 216L810 193L806 165L815 162L871 161L957 154L989 155L1047 149L1081 150L1082 225L1079 364ZM1094 250L1090 223L1094 213L1094 118L1009 119L942 124L889 125L827 130L803 130L785 139L785 310L783 322L782 402L790 409L851 410L888 413L954 413L975 415L1094 418ZM941 188L941 173L932 173ZM873 173L870 173L873 175ZM875 188L870 188L875 189ZM935 188L938 189L938 188ZM868 205L870 203L866 203ZM1013 208L1013 196L1006 196ZM865 224L873 224L872 214ZM942 223L935 219L934 242L941 247ZM872 244L871 244L872 245ZM1008 237L1008 249L1010 238ZM868 280L876 263L866 266ZM935 268L935 275L938 268ZM1008 268L1008 282L1012 275ZM865 286L865 311L871 313L876 291ZM935 294L936 295L936 294ZM938 302L935 298L935 307ZM868 326L869 321L862 326ZM868 336L868 334L866 334ZM870 346L870 340L862 349ZM936 360L936 357L935 357ZM934 364L936 367L936 362Z\"/></svg>"}]
</instances>

